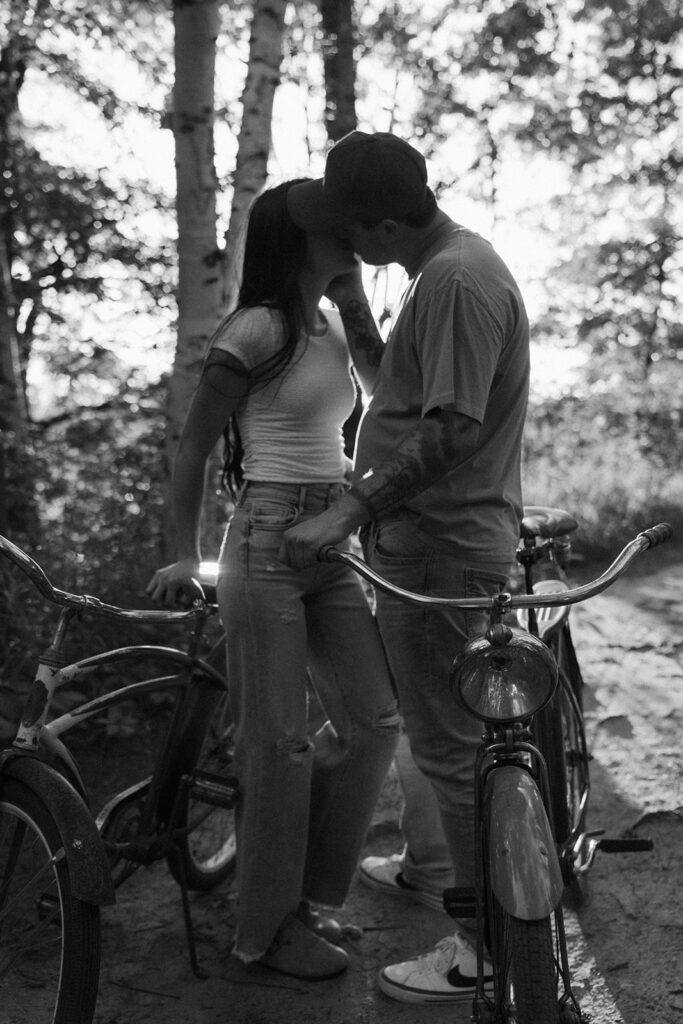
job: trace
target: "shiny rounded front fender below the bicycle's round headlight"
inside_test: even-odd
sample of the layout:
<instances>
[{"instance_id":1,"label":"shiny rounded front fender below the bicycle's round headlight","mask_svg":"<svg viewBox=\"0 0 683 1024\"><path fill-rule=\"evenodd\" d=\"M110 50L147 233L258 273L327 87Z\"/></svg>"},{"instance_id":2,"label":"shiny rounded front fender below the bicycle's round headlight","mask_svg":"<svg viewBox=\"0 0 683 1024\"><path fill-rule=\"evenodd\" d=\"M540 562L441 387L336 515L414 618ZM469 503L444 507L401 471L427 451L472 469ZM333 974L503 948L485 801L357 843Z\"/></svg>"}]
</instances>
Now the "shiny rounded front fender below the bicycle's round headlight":
<instances>
[{"instance_id":1,"label":"shiny rounded front fender below the bicycle's round headlight","mask_svg":"<svg viewBox=\"0 0 683 1024\"><path fill-rule=\"evenodd\" d=\"M555 841L536 782L514 765L494 768L484 788L490 886L513 918L547 918L562 898Z\"/></svg>"}]
</instances>

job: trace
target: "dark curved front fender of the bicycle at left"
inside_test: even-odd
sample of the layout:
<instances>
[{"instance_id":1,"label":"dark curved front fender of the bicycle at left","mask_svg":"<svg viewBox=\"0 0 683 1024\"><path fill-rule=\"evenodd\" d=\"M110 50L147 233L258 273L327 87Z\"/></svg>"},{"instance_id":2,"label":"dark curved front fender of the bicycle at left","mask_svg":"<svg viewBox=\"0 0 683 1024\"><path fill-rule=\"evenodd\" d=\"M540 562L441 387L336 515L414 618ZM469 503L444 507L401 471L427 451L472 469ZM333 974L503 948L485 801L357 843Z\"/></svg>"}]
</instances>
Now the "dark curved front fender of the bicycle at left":
<instances>
[{"instance_id":1,"label":"dark curved front fender of the bicycle at left","mask_svg":"<svg viewBox=\"0 0 683 1024\"><path fill-rule=\"evenodd\" d=\"M63 841L72 893L84 903L115 903L114 883L104 844L90 811L71 782L38 758L4 751L0 781L7 776L32 790L48 809Z\"/></svg>"}]
</instances>

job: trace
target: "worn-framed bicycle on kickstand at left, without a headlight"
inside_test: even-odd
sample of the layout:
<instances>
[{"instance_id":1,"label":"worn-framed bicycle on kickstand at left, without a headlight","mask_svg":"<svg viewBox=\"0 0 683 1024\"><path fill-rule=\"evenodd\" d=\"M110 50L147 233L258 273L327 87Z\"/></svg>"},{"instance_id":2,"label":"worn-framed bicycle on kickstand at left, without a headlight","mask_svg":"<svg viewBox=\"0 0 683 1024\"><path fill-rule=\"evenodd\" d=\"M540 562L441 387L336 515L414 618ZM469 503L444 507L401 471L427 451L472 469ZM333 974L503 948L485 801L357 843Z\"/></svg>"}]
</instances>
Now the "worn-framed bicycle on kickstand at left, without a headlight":
<instances>
[{"instance_id":1,"label":"worn-framed bicycle on kickstand at left, without a headlight","mask_svg":"<svg viewBox=\"0 0 683 1024\"><path fill-rule=\"evenodd\" d=\"M117 887L138 867L166 860L180 887L190 964L202 976L187 894L212 889L234 868L238 783L230 773L227 682L218 667L224 664L222 636L203 651L215 594L203 578L206 593L198 592L188 610L126 609L55 588L3 537L0 554L61 609L16 736L0 751L0 999L9 1024L90 1024L100 907L115 901ZM67 664L65 642L76 616L189 625L191 635L186 650L138 643ZM143 678L50 717L58 689L111 671ZM92 729L100 716L130 701L142 702L155 725L163 720L158 752L152 770L95 816L61 736L79 723Z\"/></svg>"}]
</instances>

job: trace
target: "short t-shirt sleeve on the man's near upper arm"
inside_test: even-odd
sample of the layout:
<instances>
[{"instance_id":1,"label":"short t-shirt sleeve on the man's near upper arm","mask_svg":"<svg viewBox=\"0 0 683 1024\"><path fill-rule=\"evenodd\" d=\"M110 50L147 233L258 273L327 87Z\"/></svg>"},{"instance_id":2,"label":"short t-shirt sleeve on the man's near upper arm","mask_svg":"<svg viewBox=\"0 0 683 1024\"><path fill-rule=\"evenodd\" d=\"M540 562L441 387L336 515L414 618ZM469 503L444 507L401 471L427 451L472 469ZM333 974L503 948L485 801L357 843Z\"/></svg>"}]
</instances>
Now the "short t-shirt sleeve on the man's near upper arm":
<instances>
[{"instance_id":1,"label":"short t-shirt sleeve on the man's near upper arm","mask_svg":"<svg viewBox=\"0 0 683 1024\"><path fill-rule=\"evenodd\" d=\"M500 357L500 325L460 281L442 285L421 305L422 415L447 408L482 423Z\"/></svg>"}]
</instances>

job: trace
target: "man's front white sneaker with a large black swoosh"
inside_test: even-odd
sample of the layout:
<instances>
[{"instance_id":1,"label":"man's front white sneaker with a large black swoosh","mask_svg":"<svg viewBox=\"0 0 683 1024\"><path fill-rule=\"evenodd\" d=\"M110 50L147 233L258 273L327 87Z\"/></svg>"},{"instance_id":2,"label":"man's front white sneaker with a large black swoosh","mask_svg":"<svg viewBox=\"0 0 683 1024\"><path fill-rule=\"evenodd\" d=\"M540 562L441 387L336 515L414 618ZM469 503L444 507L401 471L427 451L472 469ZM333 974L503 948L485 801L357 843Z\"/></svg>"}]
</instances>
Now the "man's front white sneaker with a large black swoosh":
<instances>
[{"instance_id":1,"label":"man's front white sneaker with a large black swoosh","mask_svg":"<svg viewBox=\"0 0 683 1024\"><path fill-rule=\"evenodd\" d=\"M477 957L460 934L449 935L428 953L380 971L380 988L399 1002L460 1002L476 990ZM484 991L493 993L493 968L484 961Z\"/></svg>"}]
</instances>

